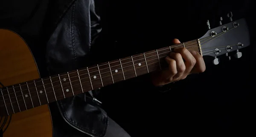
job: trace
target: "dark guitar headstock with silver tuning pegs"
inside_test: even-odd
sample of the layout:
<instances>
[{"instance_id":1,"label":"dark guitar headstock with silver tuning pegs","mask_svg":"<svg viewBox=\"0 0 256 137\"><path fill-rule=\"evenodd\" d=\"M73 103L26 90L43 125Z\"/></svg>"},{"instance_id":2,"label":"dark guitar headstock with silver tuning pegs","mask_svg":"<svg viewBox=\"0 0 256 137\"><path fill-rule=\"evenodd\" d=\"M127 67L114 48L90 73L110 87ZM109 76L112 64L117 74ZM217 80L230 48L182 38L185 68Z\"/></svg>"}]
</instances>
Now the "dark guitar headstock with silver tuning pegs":
<instances>
[{"instance_id":1,"label":"dark guitar headstock with silver tuning pegs","mask_svg":"<svg viewBox=\"0 0 256 137\"><path fill-rule=\"evenodd\" d=\"M218 64L218 56L226 54L229 57L230 52L236 51L234 56L240 58L239 49L250 45L249 29L244 18L210 29L199 40L202 55L215 57L215 65Z\"/></svg>"}]
</instances>

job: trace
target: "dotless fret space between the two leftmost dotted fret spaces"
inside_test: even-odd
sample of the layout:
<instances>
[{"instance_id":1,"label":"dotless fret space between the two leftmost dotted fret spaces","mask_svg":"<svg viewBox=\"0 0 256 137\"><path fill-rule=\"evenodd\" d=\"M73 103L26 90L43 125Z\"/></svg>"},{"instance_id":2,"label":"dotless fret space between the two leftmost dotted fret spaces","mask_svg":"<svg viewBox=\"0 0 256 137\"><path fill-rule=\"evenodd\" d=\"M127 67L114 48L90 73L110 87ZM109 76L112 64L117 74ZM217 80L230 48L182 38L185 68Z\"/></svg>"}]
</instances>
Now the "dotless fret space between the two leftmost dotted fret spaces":
<instances>
[{"instance_id":1,"label":"dotless fret space between the two leftmost dotted fret spaces","mask_svg":"<svg viewBox=\"0 0 256 137\"><path fill-rule=\"evenodd\" d=\"M34 80L26 82L26 86L29 91L29 96L34 107L40 106L40 100L38 99L38 92L34 83Z\"/></svg>"}]
</instances>

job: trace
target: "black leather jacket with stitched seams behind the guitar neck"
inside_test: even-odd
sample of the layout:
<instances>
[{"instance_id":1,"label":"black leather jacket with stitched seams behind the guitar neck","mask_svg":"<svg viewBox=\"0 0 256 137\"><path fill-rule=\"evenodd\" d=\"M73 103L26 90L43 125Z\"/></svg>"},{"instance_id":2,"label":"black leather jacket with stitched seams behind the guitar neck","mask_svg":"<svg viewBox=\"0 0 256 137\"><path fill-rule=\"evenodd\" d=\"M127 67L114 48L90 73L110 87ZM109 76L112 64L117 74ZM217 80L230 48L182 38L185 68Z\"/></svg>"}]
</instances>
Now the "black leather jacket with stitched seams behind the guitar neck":
<instances>
[{"instance_id":1,"label":"black leather jacket with stitched seams behind the guitar neck","mask_svg":"<svg viewBox=\"0 0 256 137\"><path fill-rule=\"evenodd\" d=\"M55 29L47 43L48 70L57 74L102 61L93 56L92 50L102 31L94 0L65 0L58 7L58 12L53 9L55 12L50 19L56 26L50 26ZM65 122L78 131L93 137L104 137L108 116L92 98L91 95L80 94L58 101L55 108L61 112ZM55 111L55 108L51 110Z\"/></svg>"}]
</instances>

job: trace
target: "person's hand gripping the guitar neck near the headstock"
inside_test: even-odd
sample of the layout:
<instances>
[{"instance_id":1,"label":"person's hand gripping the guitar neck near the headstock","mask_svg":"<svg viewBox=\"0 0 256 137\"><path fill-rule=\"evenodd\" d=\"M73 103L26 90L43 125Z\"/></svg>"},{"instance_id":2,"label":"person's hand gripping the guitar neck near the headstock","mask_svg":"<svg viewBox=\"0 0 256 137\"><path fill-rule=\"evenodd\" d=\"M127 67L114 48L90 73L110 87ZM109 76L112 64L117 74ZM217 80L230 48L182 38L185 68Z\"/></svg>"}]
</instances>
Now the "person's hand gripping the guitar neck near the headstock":
<instances>
[{"instance_id":1,"label":"person's hand gripping the guitar neck near the headstock","mask_svg":"<svg viewBox=\"0 0 256 137\"><path fill-rule=\"evenodd\" d=\"M179 44L178 39L173 40ZM178 80L185 79L189 74L205 71L204 59L196 51L189 52L186 48L175 48L166 58L169 68L157 71L151 75L154 86L163 86ZM183 60L184 59L184 60Z\"/></svg>"}]
</instances>

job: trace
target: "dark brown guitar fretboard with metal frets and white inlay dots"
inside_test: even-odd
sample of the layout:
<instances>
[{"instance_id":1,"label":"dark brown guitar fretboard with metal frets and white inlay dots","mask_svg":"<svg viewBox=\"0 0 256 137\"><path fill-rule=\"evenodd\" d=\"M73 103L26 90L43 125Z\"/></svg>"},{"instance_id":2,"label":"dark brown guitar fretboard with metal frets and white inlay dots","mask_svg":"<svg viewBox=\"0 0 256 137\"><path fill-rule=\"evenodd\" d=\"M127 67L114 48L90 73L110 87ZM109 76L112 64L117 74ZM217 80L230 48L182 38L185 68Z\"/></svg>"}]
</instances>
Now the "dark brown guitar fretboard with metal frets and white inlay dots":
<instances>
[{"instance_id":1,"label":"dark brown guitar fretboard with metal frets and white inlay dots","mask_svg":"<svg viewBox=\"0 0 256 137\"><path fill-rule=\"evenodd\" d=\"M1 88L0 114L14 114L93 89L128 80L166 67L165 57L175 47L200 52L199 40L112 60L42 79ZM3 113L3 110L6 112Z\"/></svg>"}]
</instances>

